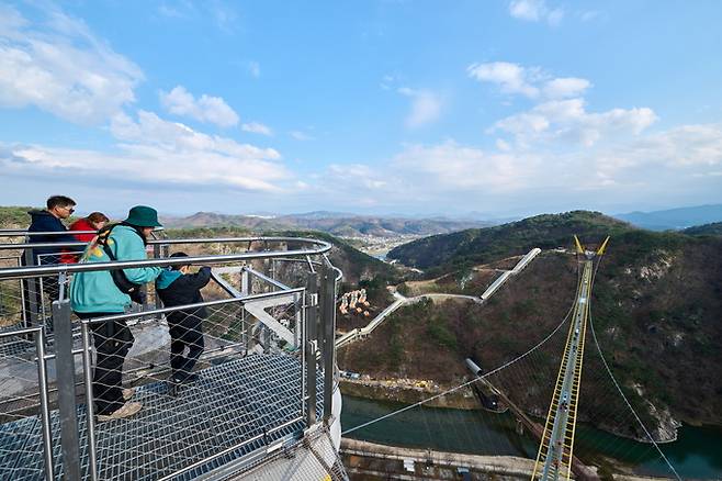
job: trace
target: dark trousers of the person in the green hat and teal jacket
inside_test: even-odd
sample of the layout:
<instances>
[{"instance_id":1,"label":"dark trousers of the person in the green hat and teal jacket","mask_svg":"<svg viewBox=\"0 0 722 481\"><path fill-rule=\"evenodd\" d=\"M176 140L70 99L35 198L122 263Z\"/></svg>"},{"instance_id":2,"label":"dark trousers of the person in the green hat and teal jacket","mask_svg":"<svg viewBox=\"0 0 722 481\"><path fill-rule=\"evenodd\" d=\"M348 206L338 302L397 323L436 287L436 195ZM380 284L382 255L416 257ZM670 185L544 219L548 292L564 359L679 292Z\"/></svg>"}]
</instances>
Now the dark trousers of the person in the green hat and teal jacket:
<instances>
[{"instance_id":1,"label":"dark trousers of the person in the green hat and teal jacket","mask_svg":"<svg viewBox=\"0 0 722 481\"><path fill-rule=\"evenodd\" d=\"M76 313L80 318L101 317L116 312ZM95 346L93 398L95 414L111 414L125 404L123 400L123 362L133 346L133 333L125 321L91 324Z\"/></svg>"}]
</instances>

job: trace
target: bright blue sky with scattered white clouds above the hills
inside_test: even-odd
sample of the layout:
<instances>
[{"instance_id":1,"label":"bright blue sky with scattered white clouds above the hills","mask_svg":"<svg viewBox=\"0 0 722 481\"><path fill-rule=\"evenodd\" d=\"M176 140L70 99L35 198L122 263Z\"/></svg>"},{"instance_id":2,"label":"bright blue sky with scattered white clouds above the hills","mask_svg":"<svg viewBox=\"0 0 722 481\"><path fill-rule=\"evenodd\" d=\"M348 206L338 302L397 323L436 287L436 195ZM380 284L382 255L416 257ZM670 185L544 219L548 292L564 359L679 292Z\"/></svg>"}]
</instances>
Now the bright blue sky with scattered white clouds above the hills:
<instances>
[{"instance_id":1,"label":"bright blue sky with scattered white clouds above the hills","mask_svg":"<svg viewBox=\"0 0 722 481\"><path fill-rule=\"evenodd\" d=\"M2 204L722 202L717 1L0 1Z\"/></svg>"}]
</instances>

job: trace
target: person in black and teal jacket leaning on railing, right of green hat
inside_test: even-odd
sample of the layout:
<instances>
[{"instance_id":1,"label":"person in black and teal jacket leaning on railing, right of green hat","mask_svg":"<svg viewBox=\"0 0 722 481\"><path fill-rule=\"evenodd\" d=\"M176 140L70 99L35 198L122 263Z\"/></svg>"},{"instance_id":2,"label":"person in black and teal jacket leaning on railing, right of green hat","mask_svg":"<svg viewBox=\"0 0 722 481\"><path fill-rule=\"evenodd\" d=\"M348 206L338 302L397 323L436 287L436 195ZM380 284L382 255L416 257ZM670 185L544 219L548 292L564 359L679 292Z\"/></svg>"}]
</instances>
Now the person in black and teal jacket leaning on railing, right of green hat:
<instances>
[{"instance_id":1,"label":"person in black and teal jacket leaning on railing, right of green hat","mask_svg":"<svg viewBox=\"0 0 722 481\"><path fill-rule=\"evenodd\" d=\"M188 257L185 253L174 253L170 257ZM166 307L203 302L201 289L211 280L211 268L202 267L196 273L189 273L190 266L172 267L163 270L156 280L156 292ZM170 332L170 377L171 394L183 382L193 381L191 373L195 361L203 354L203 320L205 307L173 311L166 316ZM183 351L188 347L188 356Z\"/></svg>"}]
</instances>

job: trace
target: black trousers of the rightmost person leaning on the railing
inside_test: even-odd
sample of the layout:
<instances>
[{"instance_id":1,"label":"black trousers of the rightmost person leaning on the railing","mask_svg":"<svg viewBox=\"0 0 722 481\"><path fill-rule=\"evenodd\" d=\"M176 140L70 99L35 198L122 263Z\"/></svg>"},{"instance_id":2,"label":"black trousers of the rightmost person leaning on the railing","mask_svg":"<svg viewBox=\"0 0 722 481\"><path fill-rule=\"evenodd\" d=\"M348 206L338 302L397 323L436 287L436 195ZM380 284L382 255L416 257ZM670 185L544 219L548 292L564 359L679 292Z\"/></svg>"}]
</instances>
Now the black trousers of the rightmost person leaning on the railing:
<instances>
[{"instance_id":1,"label":"black trousers of the rightmost person leaning on the railing","mask_svg":"<svg viewBox=\"0 0 722 481\"><path fill-rule=\"evenodd\" d=\"M168 316L170 367L173 370L173 379L182 382L188 379L203 354L203 320L194 315L173 314ZM183 356L187 347L188 356Z\"/></svg>"}]
</instances>

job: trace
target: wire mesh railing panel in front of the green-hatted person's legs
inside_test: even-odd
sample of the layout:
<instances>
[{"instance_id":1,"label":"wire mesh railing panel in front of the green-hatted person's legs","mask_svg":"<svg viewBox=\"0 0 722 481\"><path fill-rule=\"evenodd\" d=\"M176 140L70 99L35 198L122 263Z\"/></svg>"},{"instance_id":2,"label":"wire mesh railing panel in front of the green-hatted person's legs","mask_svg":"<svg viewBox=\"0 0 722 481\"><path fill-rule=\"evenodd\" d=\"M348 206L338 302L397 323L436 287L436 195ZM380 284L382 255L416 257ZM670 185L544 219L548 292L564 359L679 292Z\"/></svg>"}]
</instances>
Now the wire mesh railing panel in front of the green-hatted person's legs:
<instances>
[{"instance_id":1,"label":"wire mesh railing panel in front of the green-hatted person's legs","mask_svg":"<svg viewBox=\"0 0 722 481\"><path fill-rule=\"evenodd\" d=\"M91 321L101 479L157 479L193 465L201 474L217 452L241 456L303 429L300 358L246 356L244 315L227 303L131 326Z\"/></svg>"}]
</instances>

